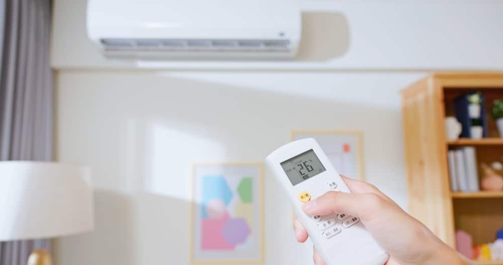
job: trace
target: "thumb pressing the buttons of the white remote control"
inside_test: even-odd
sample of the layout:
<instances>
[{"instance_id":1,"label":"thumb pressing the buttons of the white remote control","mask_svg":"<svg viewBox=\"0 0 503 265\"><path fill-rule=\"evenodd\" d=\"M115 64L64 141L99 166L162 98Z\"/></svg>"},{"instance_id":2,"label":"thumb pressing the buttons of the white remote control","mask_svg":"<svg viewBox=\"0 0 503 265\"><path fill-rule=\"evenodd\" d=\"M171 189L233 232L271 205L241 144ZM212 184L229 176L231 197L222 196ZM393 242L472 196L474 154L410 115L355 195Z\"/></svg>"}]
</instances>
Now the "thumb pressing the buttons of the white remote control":
<instances>
[{"instance_id":1,"label":"thumb pressing the buttons of the white remote control","mask_svg":"<svg viewBox=\"0 0 503 265\"><path fill-rule=\"evenodd\" d=\"M369 220L384 204L384 199L375 193L327 192L302 205L308 215L345 213Z\"/></svg>"}]
</instances>

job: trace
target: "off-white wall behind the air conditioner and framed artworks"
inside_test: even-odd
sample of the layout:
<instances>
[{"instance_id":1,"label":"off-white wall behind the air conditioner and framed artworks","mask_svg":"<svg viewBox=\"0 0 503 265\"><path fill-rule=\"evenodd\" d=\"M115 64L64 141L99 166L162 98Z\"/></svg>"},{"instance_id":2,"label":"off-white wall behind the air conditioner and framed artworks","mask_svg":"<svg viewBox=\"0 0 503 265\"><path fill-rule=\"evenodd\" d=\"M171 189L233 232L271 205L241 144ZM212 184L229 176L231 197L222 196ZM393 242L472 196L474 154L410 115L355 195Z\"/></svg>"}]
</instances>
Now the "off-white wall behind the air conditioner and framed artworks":
<instances>
[{"instance_id":1,"label":"off-white wall behind the air conditioner and framed artworks","mask_svg":"<svg viewBox=\"0 0 503 265\"><path fill-rule=\"evenodd\" d=\"M96 188L96 231L55 240L56 265L188 264L190 164L262 161L293 129L361 130L365 178L406 207L399 90L425 69L502 69L503 6L459 4L450 13L443 4L343 3L304 2L348 20L348 51L327 62L138 71L90 45L84 0L56 0L57 159L90 165ZM476 38L461 39L463 27ZM167 71L180 68L189 71ZM278 193L266 170L265 264L309 264L310 246L295 242Z\"/></svg>"}]
</instances>

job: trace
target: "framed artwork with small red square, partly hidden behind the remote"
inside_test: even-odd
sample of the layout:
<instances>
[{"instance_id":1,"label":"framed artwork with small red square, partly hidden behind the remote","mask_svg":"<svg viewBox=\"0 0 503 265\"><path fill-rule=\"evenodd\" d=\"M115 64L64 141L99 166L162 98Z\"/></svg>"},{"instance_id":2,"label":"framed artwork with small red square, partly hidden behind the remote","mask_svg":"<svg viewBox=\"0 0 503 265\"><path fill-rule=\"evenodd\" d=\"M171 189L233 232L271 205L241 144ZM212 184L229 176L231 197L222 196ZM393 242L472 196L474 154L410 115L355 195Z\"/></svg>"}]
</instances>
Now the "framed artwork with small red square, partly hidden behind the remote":
<instances>
[{"instance_id":1,"label":"framed artwork with small red square, partly hidden behind the remote","mask_svg":"<svg viewBox=\"0 0 503 265\"><path fill-rule=\"evenodd\" d=\"M292 131L291 140L314 138L340 174L363 180L362 134L358 131Z\"/></svg>"}]
</instances>

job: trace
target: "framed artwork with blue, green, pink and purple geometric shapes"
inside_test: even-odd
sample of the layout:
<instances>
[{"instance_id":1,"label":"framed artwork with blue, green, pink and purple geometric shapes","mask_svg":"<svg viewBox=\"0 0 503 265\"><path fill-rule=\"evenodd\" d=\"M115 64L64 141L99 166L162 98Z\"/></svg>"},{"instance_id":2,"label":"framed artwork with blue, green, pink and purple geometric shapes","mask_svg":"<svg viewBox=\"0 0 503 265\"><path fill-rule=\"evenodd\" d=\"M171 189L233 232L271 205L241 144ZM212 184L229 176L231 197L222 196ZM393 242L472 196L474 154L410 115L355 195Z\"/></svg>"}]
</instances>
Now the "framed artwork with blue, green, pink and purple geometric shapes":
<instances>
[{"instance_id":1,"label":"framed artwork with blue, green, pink and purple geometric shapes","mask_svg":"<svg viewBox=\"0 0 503 265\"><path fill-rule=\"evenodd\" d=\"M261 163L194 164L193 264L263 262Z\"/></svg>"}]
</instances>

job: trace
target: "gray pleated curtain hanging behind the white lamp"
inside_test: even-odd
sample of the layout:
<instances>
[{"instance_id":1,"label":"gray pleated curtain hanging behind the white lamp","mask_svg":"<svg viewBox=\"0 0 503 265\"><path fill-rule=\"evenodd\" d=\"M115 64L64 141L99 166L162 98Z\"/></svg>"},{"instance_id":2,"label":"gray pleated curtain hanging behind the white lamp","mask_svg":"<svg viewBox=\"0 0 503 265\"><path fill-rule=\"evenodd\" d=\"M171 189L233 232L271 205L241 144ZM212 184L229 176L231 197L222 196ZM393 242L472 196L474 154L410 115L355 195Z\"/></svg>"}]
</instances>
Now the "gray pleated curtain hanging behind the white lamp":
<instances>
[{"instance_id":1,"label":"gray pleated curtain hanging behind the white lamp","mask_svg":"<svg viewBox=\"0 0 503 265\"><path fill-rule=\"evenodd\" d=\"M52 160L50 0L1 0L0 160ZM0 243L0 265L26 265L49 240Z\"/></svg>"}]
</instances>

